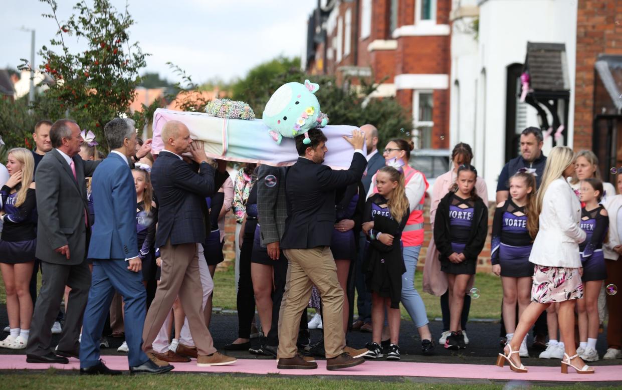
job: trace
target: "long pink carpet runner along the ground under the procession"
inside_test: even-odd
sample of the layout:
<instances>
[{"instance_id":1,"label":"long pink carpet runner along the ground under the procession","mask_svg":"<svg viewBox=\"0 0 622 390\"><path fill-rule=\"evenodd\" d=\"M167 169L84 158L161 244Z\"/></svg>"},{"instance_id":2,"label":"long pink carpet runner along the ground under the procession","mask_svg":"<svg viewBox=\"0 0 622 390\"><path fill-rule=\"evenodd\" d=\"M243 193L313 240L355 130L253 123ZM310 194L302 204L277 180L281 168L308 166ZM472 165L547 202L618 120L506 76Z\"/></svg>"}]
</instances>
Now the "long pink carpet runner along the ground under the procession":
<instances>
[{"instance_id":1,"label":"long pink carpet runner along the ground under the procession","mask_svg":"<svg viewBox=\"0 0 622 390\"><path fill-rule=\"evenodd\" d=\"M102 356L111 369L128 370L126 356ZM230 366L197 367L191 363L175 363L175 372L188 373L247 373L247 374L287 374L287 375L343 375L343 376L423 376L428 378L468 378L468 379L505 379L521 381L622 381L622 366L598 366L595 374L577 374L569 369L570 374L562 374L559 367L529 366L529 373L513 373L506 366L499 368L481 364L444 364L444 363L408 363L390 361L366 361L360 366L340 371L328 371L326 361L318 360L318 368L285 369L276 368L276 360L238 359ZM492 362L491 362L492 363ZM25 355L0 355L0 369L79 369L77 359L70 359L69 364L34 364L26 363Z\"/></svg>"}]
</instances>

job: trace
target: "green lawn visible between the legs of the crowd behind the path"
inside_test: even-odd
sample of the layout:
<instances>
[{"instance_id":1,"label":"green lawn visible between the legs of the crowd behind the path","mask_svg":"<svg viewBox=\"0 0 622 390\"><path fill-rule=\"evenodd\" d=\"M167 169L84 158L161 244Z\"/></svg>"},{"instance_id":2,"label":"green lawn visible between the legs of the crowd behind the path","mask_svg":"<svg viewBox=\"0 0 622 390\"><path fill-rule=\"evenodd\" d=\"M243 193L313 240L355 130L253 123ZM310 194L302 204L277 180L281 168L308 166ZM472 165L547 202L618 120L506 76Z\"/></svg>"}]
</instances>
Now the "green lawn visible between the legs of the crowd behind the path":
<instances>
[{"instance_id":1,"label":"green lawn visible between the legs of the crowd behind the path","mask_svg":"<svg viewBox=\"0 0 622 390\"><path fill-rule=\"evenodd\" d=\"M39 287L40 287L39 275ZM441 317L440 300L434 295L427 294L421 290L422 272L417 271L415 275L415 287L424 300L425 309L430 320ZM235 277L233 266L222 271L216 271L214 275L214 307L224 310L236 309ZM494 318L501 316L501 279L493 274L477 274L475 277L476 288L480 289L480 297L471 301L470 318ZM6 304L6 292L4 282L0 280L0 302ZM401 307L402 317L409 318L408 313ZM356 310L356 308L355 308Z\"/></svg>"}]
</instances>

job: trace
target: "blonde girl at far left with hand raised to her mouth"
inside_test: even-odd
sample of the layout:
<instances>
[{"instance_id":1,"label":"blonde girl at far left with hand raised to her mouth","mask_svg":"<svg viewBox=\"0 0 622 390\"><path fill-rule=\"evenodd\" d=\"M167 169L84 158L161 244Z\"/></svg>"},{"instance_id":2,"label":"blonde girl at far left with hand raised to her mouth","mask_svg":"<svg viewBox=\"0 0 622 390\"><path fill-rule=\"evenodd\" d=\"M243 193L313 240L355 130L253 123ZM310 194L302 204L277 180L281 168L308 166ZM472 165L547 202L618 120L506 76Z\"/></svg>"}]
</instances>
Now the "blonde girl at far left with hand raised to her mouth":
<instances>
[{"instance_id":1,"label":"blonde girl at far left with hand raised to her mouth","mask_svg":"<svg viewBox=\"0 0 622 390\"><path fill-rule=\"evenodd\" d=\"M7 158L11 177L0 188L0 218L4 223L0 236L0 270L6 289L6 309L10 334L0 346L26 348L32 320L30 277L37 247L35 209L35 161L28 149L11 149Z\"/></svg>"}]
</instances>

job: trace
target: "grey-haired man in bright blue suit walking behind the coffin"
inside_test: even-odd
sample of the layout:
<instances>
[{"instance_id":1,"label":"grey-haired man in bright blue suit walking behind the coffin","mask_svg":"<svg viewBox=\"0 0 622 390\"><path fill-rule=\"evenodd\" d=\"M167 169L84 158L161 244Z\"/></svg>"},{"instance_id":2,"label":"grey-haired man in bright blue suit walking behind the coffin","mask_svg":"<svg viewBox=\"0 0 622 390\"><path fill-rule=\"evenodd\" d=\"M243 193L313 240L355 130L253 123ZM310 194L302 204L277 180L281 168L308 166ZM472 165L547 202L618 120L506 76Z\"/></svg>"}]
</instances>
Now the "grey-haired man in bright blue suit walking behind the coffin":
<instances>
[{"instance_id":1,"label":"grey-haired man in bright blue suit walking behind the coffin","mask_svg":"<svg viewBox=\"0 0 622 390\"><path fill-rule=\"evenodd\" d=\"M88 255L93 276L83 320L80 374L121 374L100 360L99 340L114 290L125 303L130 372L165 373L173 366L158 366L141 348L147 294L136 239L136 188L128 162L136 147L134 121L113 119L104 126L104 134L111 152L95 170L91 187L96 223Z\"/></svg>"}]
</instances>

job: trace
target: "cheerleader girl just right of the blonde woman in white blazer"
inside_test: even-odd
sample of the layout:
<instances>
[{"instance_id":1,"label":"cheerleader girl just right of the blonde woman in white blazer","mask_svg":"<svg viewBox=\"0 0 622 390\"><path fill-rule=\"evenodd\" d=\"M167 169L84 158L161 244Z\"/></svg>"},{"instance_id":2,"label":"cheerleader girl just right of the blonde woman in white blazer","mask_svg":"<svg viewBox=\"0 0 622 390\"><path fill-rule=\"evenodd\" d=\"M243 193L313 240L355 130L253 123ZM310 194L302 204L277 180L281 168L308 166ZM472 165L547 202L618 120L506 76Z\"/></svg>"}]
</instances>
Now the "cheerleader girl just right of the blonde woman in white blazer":
<instances>
[{"instance_id":1,"label":"cheerleader girl just right of the blonde woman in white blazer","mask_svg":"<svg viewBox=\"0 0 622 390\"><path fill-rule=\"evenodd\" d=\"M579 348L578 355L583 361L598 360L596 338L598 338L598 294L607 277L603 242L606 241L609 216L605 207L599 205L603 197L603 182L599 179L583 179L581 182L580 226L587 234L579 244L583 266L583 298L577 300Z\"/></svg>"}]
</instances>

